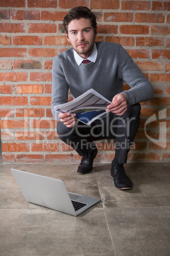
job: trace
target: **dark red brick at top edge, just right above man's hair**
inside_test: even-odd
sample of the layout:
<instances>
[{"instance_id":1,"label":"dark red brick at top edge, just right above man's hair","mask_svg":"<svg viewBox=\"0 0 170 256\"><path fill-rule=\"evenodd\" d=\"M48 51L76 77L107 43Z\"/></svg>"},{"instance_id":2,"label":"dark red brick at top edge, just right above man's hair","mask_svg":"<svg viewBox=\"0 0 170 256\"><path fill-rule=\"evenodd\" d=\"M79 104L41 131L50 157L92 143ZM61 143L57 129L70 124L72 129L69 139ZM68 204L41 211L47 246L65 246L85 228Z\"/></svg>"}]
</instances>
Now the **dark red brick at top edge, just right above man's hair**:
<instances>
[{"instance_id":1,"label":"dark red brick at top edge, just right above man's hair","mask_svg":"<svg viewBox=\"0 0 170 256\"><path fill-rule=\"evenodd\" d=\"M60 0L62 1L62 0ZM90 8L92 9L119 9L119 0L91 0Z\"/></svg>"}]
</instances>

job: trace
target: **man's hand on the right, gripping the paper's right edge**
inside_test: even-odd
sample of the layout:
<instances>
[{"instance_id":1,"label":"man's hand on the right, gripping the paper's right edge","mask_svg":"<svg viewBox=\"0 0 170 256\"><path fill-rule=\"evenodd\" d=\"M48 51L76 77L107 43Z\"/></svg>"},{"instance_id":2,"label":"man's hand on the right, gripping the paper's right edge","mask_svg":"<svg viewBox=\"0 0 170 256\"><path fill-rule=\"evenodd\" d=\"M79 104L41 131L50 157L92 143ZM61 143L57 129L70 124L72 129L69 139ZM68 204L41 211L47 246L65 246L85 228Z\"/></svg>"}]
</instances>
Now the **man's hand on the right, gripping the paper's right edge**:
<instances>
[{"instance_id":1,"label":"man's hand on the right, gripping the paper's right edge","mask_svg":"<svg viewBox=\"0 0 170 256\"><path fill-rule=\"evenodd\" d=\"M127 96L126 94L116 94L112 99L112 103L107 106L106 111L111 111L116 115L123 115L127 110Z\"/></svg>"}]
</instances>

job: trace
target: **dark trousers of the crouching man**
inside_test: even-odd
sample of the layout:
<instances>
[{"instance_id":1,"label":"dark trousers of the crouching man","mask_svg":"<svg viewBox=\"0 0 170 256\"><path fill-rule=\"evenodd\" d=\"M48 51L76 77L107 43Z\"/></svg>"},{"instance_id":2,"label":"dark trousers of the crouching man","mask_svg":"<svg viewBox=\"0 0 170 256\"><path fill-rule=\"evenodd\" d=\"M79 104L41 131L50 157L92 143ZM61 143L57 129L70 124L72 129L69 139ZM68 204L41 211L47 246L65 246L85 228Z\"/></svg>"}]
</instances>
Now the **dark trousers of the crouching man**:
<instances>
[{"instance_id":1,"label":"dark trousers of the crouching man","mask_svg":"<svg viewBox=\"0 0 170 256\"><path fill-rule=\"evenodd\" d=\"M140 110L139 103L130 105L124 115L117 116L108 112L91 125L77 122L72 128L67 128L62 122L58 122L58 136L67 145L72 146L79 155L95 150L96 145L93 141L114 139L115 157L119 163L125 164L140 125Z\"/></svg>"}]
</instances>

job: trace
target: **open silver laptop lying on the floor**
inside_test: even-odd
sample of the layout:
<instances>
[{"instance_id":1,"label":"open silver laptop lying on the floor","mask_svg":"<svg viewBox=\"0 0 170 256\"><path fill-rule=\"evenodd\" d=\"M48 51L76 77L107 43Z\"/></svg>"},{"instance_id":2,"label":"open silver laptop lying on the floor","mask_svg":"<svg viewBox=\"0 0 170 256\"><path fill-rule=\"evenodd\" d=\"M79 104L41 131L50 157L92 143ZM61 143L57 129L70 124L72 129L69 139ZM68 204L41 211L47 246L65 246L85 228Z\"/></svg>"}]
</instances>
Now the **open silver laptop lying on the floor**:
<instances>
[{"instance_id":1,"label":"open silver laptop lying on the floor","mask_svg":"<svg viewBox=\"0 0 170 256\"><path fill-rule=\"evenodd\" d=\"M100 199L67 192L62 180L11 169L25 200L78 216Z\"/></svg>"}]
</instances>

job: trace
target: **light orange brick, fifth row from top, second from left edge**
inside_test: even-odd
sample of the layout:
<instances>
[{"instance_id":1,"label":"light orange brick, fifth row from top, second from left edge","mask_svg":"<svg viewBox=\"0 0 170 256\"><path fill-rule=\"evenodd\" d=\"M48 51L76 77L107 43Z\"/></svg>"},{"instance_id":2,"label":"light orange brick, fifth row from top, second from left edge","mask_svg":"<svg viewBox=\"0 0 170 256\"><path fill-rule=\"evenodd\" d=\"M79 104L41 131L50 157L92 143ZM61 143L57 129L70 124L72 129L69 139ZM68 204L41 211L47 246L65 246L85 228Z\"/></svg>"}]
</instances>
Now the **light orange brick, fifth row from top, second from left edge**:
<instances>
[{"instance_id":1,"label":"light orange brick, fifth row from top, second from left edge","mask_svg":"<svg viewBox=\"0 0 170 256\"><path fill-rule=\"evenodd\" d=\"M32 57L55 57L57 55L57 49L31 48L29 49L29 55Z\"/></svg>"}]
</instances>

